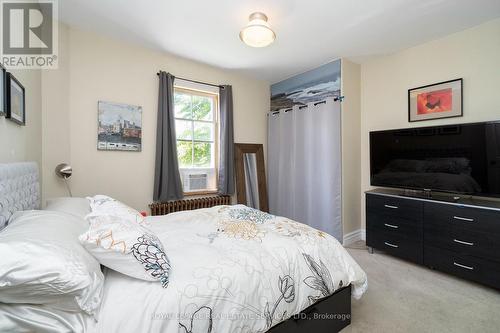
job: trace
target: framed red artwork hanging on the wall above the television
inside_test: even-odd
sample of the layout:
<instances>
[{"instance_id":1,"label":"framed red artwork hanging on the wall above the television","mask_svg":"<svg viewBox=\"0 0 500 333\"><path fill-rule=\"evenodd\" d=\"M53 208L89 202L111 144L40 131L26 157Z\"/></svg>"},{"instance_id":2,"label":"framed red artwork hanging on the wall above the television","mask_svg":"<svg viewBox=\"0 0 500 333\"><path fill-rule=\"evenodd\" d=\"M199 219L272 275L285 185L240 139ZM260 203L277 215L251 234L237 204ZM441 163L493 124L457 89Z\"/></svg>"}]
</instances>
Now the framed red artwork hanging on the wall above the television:
<instances>
[{"instance_id":1,"label":"framed red artwork hanging on the wall above the television","mask_svg":"<svg viewBox=\"0 0 500 333\"><path fill-rule=\"evenodd\" d=\"M463 116L462 79L408 90L408 121Z\"/></svg>"}]
</instances>

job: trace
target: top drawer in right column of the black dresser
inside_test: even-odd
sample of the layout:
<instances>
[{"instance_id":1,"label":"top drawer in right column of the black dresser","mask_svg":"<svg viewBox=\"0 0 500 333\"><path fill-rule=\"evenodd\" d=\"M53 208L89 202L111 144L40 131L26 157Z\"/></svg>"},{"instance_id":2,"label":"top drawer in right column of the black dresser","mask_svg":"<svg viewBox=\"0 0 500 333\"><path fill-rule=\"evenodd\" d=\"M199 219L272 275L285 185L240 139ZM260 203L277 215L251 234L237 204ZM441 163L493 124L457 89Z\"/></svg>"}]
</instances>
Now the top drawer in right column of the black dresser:
<instances>
[{"instance_id":1,"label":"top drawer in right column of the black dresser","mask_svg":"<svg viewBox=\"0 0 500 333\"><path fill-rule=\"evenodd\" d=\"M424 219L430 225L500 236L500 212L494 210L426 202Z\"/></svg>"}]
</instances>

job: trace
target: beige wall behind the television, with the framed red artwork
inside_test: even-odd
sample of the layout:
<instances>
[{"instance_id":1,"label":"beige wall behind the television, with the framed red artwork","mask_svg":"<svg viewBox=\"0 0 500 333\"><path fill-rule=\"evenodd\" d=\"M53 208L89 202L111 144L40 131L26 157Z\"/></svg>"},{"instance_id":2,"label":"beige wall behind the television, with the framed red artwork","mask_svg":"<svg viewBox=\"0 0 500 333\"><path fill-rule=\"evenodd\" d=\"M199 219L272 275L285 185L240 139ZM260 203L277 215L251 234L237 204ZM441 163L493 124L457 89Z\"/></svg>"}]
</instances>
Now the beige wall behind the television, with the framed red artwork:
<instances>
[{"instance_id":1,"label":"beige wall behind the television, with the framed red artwork","mask_svg":"<svg viewBox=\"0 0 500 333\"><path fill-rule=\"evenodd\" d=\"M464 116L408 123L407 90L464 79ZM369 132L500 119L500 19L361 66L361 212L370 188Z\"/></svg>"}]
</instances>

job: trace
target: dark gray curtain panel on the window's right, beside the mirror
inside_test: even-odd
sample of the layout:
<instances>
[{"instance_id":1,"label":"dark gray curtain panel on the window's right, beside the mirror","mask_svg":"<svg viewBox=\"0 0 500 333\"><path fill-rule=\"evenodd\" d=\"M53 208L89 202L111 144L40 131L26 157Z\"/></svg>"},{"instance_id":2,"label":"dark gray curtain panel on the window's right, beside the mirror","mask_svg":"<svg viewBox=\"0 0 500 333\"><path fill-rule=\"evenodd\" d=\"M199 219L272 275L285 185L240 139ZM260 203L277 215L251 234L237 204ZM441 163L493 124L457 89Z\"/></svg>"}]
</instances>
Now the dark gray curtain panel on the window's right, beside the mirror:
<instances>
[{"instance_id":1,"label":"dark gray curtain panel on the window's right, beside the mirror","mask_svg":"<svg viewBox=\"0 0 500 333\"><path fill-rule=\"evenodd\" d=\"M219 88L220 98L220 194L234 194L234 133L233 133L233 89L225 85Z\"/></svg>"}]
</instances>

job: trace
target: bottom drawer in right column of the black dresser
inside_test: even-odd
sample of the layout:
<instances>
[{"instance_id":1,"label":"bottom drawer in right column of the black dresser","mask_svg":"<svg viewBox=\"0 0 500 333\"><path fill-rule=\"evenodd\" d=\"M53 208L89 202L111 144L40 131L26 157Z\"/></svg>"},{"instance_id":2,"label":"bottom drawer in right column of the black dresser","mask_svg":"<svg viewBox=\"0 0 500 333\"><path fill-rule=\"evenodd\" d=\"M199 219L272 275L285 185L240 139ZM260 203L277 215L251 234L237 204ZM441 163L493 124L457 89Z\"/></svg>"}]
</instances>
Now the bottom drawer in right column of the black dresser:
<instances>
[{"instance_id":1,"label":"bottom drawer in right column of the black dresser","mask_svg":"<svg viewBox=\"0 0 500 333\"><path fill-rule=\"evenodd\" d=\"M424 249L426 266L500 289L500 263L428 246Z\"/></svg>"}]
</instances>

